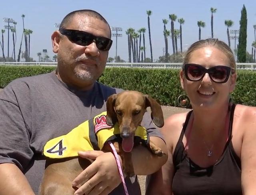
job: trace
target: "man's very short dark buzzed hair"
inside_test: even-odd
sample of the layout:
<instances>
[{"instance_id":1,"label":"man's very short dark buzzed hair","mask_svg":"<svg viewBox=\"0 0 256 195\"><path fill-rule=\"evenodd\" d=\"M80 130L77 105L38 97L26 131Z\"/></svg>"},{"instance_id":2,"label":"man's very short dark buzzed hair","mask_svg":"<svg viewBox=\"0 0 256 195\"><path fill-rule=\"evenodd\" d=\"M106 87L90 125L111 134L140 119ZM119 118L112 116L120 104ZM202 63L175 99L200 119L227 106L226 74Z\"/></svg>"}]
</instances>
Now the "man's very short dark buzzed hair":
<instances>
[{"instance_id":1,"label":"man's very short dark buzzed hair","mask_svg":"<svg viewBox=\"0 0 256 195\"><path fill-rule=\"evenodd\" d=\"M99 20L102 20L103 22L105 22L108 25L109 30L110 30L110 36L111 36L111 29L110 29L108 22L102 15L100 15L98 12L96 12L94 10L76 10L76 11L70 12L68 15L66 15L63 18L62 22L60 23L60 29L65 29L66 25L71 21L71 19L73 18L73 16L75 14L85 14L87 16L91 16L91 17L97 18Z\"/></svg>"}]
</instances>

